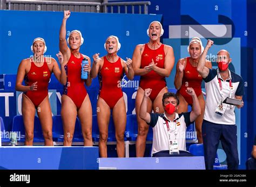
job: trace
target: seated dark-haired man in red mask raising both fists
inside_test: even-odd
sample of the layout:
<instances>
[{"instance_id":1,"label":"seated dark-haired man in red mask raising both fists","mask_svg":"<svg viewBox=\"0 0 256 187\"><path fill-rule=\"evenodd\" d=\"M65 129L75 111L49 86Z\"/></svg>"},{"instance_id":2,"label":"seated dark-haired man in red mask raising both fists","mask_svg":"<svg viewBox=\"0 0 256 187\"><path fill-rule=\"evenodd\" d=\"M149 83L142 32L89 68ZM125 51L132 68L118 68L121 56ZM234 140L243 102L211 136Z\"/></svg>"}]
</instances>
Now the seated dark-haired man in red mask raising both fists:
<instances>
[{"instance_id":1,"label":"seated dark-haired man in red mask raising both fists","mask_svg":"<svg viewBox=\"0 0 256 187\"><path fill-rule=\"evenodd\" d=\"M186 151L186 128L201 114L201 107L193 88L186 90L188 95L192 96L193 110L180 114L176 113L179 99L171 92L163 95L165 113L148 113L147 102L151 91L152 89L144 91L140 118L153 128L152 156L193 156Z\"/></svg>"}]
</instances>

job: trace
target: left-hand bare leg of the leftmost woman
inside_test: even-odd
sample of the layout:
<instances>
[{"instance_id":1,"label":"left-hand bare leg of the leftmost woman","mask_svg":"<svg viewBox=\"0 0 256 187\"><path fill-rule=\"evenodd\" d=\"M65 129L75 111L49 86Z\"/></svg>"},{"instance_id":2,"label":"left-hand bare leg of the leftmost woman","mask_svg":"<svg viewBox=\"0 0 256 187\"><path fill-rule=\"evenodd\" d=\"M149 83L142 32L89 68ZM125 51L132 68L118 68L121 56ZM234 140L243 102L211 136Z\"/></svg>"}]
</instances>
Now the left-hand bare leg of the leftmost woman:
<instances>
[{"instance_id":1,"label":"left-hand bare leg of the leftmost woman","mask_svg":"<svg viewBox=\"0 0 256 187\"><path fill-rule=\"evenodd\" d=\"M35 105L25 95L22 95L22 116L25 126L25 146L33 145L34 138L34 119L35 119Z\"/></svg>"}]
</instances>

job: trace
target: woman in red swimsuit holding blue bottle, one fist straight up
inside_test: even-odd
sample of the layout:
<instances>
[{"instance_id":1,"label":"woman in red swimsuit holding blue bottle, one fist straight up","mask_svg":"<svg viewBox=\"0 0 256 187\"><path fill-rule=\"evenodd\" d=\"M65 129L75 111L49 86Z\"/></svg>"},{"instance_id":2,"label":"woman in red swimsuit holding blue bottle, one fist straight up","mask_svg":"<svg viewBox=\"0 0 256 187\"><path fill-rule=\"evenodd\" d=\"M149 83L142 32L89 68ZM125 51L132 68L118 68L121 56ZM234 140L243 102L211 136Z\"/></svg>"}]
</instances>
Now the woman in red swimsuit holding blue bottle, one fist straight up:
<instances>
[{"instance_id":1,"label":"woman in red swimsuit holding blue bottle, one fist straight up","mask_svg":"<svg viewBox=\"0 0 256 187\"><path fill-rule=\"evenodd\" d=\"M83 44L83 37L80 31L70 32L66 41L66 20L70 17L70 11L64 11L62 25L59 31L59 61L63 61L61 71L65 75L64 93L62 95L62 122L64 129L64 146L71 146L75 131L76 117L80 119L84 146L92 146L92 106L89 95L84 87L91 85L91 60L88 56L79 52ZM83 67L87 71L87 79L81 79L81 64L83 59L89 64Z\"/></svg>"}]
</instances>

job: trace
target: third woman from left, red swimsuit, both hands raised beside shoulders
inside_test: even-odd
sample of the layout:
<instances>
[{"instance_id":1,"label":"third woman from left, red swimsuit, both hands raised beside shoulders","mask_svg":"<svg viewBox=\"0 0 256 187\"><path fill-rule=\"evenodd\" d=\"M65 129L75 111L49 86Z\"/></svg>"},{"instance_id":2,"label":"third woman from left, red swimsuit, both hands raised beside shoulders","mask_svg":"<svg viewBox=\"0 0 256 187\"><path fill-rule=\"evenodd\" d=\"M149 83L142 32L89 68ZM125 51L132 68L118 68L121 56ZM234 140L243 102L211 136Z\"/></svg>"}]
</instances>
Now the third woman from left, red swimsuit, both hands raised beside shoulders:
<instances>
[{"instance_id":1,"label":"third woman from left, red swimsuit, both hands raised beside shoulders","mask_svg":"<svg viewBox=\"0 0 256 187\"><path fill-rule=\"evenodd\" d=\"M107 136L110 114L112 110L114 127L116 129L117 155L124 157L124 131L126 125L126 107L121 89L121 81L125 73L129 80L133 79L132 60L126 57L126 62L117 52L121 44L116 36L111 35L104 45L107 55L93 55L91 76L99 77L99 96L97 102L97 120L99 126L99 153L107 157Z\"/></svg>"}]
</instances>

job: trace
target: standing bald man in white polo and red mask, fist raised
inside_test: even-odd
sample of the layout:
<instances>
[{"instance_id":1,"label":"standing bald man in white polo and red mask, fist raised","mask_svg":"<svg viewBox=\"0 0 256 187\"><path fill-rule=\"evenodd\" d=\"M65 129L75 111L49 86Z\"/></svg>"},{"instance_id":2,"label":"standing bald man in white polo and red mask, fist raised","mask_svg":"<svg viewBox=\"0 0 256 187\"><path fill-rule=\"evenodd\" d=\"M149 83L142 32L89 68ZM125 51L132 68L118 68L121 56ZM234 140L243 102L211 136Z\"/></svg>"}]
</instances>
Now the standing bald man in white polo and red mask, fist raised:
<instances>
[{"instance_id":1,"label":"standing bald man in white polo and red mask, fist raised","mask_svg":"<svg viewBox=\"0 0 256 187\"><path fill-rule=\"evenodd\" d=\"M215 155L219 141L227 155L227 168L238 169L237 126L235 125L234 107L239 109L244 105L244 83L242 78L228 69L232 59L226 50L220 50L217 54L217 69L205 67L205 59L208 49L213 45L208 40L201 54L197 66L198 73L205 81L206 106L202 134L204 142L204 155L206 169L213 169ZM226 98L241 100L240 105L225 103ZM238 102L238 101L236 101Z\"/></svg>"}]
</instances>

